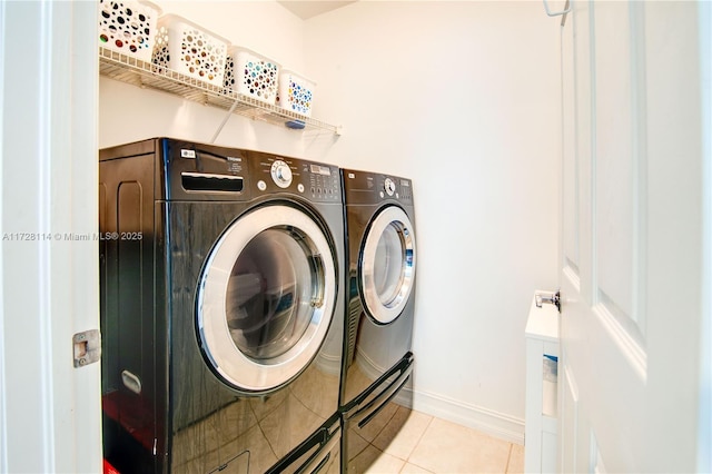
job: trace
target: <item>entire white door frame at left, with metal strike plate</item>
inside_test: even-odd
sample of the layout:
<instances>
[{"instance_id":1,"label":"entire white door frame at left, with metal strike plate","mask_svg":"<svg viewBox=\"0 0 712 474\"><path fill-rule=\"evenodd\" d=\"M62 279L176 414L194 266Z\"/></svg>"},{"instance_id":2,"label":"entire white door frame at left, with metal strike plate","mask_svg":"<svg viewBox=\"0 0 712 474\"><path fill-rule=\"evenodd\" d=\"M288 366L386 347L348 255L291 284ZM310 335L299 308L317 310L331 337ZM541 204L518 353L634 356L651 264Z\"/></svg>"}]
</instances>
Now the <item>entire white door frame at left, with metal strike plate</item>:
<instances>
[{"instance_id":1,"label":"entire white door frame at left, with metal strike plate","mask_svg":"<svg viewBox=\"0 0 712 474\"><path fill-rule=\"evenodd\" d=\"M97 2L0 2L0 471L101 472Z\"/></svg>"}]
</instances>

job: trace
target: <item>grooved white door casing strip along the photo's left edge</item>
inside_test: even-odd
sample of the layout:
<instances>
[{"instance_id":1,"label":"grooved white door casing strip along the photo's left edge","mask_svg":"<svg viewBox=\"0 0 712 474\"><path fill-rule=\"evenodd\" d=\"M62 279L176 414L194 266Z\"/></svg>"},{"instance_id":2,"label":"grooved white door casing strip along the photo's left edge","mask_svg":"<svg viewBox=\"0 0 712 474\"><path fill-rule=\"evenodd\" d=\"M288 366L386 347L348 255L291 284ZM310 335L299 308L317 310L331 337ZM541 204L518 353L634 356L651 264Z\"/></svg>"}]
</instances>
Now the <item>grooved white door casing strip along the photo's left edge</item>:
<instances>
[{"instance_id":1,"label":"grooved white door casing strip along the photo's left edge","mask_svg":"<svg viewBox=\"0 0 712 474\"><path fill-rule=\"evenodd\" d=\"M8 80L2 85L2 113L8 113L8 120L3 118L8 132L3 131L2 137L2 190L6 196L12 196L2 203L3 233L19 236L2 243L2 271L12 275L3 279L2 299L7 335L3 350L8 354L8 364L3 367L8 387L3 392L3 429L12 434L3 440L7 443L3 463L9 472L55 472L53 407L50 406L55 393L47 374L52 369L48 333L57 313L47 313L50 288L42 274L49 265L47 247L40 238L34 238L44 237L48 220L47 195L42 196L39 187L43 184L41 167L46 166L50 146L47 116L52 107L47 98L51 99L52 93L47 89L52 82L42 75L56 72L47 63L51 58L48 38L53 6L4 2L3 7L3 33L8 40L3 51L6 69L10 71L16 65L23 65L22 75L7 75ZM16 38L22 39L22 48L13 48ZM56 77L60 78L59 72ZM33 179L13 179L19 176ZM26 236L31 239L24 240ZM22 361L21 365L18 359Z\"/></svg>"}]
</instances>

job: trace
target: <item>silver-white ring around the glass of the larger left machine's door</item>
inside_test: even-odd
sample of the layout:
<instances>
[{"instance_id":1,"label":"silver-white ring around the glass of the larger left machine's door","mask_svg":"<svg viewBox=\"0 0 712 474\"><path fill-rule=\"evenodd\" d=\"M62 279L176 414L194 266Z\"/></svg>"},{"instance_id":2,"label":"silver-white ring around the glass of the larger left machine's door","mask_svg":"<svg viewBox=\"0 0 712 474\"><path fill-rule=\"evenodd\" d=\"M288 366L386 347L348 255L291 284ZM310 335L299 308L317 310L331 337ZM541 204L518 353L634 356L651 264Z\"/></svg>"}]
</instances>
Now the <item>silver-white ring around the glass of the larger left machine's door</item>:
<instances>
[{"instance_id":1,"label":"silver-white ring around the glass of the larger left machine's door","mask_svg":"<svg viewBox=\"0 0 712 474\"><path fill-rule=\"evenodd\" d=\"M314 243L324 268L324 298L299 342L284 354L261 362L246 356L233 340L226 319L226 292L233 266L247 244L261 231L293 226ZM267 392L293 379L319 350L336 302L336 266L322 228L305 213L289 206L257 208L233 223L214 246L198 286L197 326L202 353L212 369L230 385Z\"/></svg>"}]
</instances>

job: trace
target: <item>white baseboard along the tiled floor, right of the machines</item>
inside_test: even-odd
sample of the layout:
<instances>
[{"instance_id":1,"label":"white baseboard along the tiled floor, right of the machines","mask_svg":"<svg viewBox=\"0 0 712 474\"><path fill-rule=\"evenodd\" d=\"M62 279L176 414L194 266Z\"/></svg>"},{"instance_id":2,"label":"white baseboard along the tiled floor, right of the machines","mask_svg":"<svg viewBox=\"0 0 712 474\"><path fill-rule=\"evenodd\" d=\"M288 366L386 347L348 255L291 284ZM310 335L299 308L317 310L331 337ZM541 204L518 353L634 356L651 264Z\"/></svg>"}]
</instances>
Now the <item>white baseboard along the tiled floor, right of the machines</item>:
<instances>
[{"instance_id":1,"label":"white baseboard along the tiled floor, right of the machines","mask_svg":"<svg viewBox=\"0 0 712 474\"><path fill-rule=\"evenodd\" d=\"M443 395L412 391L404 387L395 398L400 405L436 416L458 425L467 426L510 443L524 444L524 419L468 405Z\"/></svg>"}]
</instances>

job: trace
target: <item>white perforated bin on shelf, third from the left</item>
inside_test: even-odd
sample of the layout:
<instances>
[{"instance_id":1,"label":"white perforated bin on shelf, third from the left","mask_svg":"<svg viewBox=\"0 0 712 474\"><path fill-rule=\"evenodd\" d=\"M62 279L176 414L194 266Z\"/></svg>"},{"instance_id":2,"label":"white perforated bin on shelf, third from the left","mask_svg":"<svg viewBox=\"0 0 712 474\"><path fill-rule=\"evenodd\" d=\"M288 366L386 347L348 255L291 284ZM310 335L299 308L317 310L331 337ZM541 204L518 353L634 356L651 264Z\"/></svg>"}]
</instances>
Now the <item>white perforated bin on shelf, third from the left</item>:
<instances>
[{"instance_id":1,"label":"white perforated bin on shelf, third from the left","mask_svg":"<svg viewBox=\"0 0 712 474\"><path fill-rule=\"evenodd\" d=\"M228 48L226 92L238 92L267 103L277 100L279 63L239 46Z\"/></svg>"}]
</instances>

